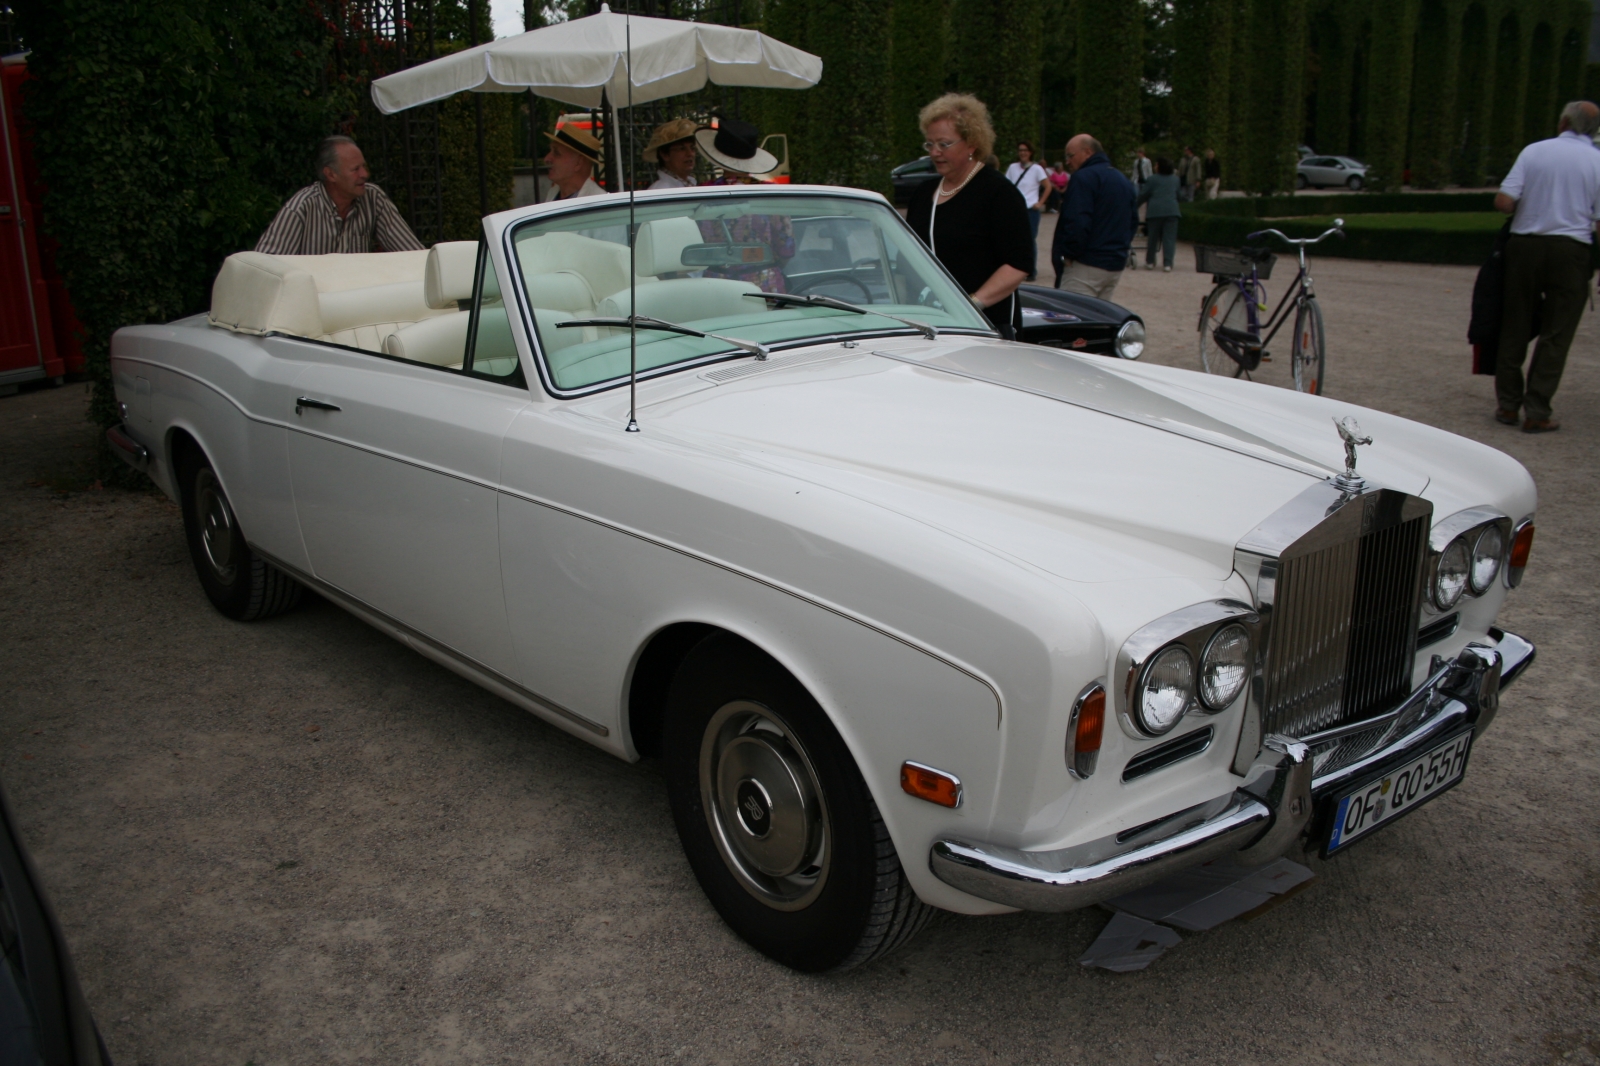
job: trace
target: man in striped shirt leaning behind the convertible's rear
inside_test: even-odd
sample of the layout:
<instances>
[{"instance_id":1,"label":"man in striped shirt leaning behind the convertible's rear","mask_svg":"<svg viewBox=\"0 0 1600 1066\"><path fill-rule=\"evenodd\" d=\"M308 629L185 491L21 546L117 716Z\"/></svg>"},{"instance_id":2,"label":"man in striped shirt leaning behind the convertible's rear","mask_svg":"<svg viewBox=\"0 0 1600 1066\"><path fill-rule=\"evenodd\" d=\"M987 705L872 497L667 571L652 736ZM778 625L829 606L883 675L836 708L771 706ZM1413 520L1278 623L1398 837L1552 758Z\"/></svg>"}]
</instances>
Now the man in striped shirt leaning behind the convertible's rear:
<instances>
[{"instance_id":1,"label":"man in striped shirt leaning behind the convertible's rear","mask_svg":"<svg viewBox=\"0 0 1600 1066\"><path fill-rule=\"evenodd\" d=\"M256 251L322 256L333 251L422 248L389 195L368 181L370 174L355 141L344 136L323 138L317 146L320 181L290 197L267 232L261 234Z\"/></svg>"}]
</instances>

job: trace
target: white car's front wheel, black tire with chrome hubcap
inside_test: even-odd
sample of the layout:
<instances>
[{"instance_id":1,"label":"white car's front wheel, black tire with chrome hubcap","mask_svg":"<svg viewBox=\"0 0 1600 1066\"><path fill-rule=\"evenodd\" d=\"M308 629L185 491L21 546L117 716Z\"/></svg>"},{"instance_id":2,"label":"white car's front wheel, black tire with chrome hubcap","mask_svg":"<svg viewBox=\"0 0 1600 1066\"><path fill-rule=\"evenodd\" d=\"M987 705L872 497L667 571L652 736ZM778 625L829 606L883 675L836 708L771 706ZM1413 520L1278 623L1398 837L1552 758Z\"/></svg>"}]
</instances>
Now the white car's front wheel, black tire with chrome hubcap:
<instances>
[{"instance_id":1,"label":"white car's front wheel, black tire with chrome hubcap","mask_svg":"<svg viewBox=\"0 0 1600 1066\"><path fill-rule=\"evenodd\" d=\"M808 973L850 970L899 948L938 912L906 880L827 715L752 645L712 634L688 655L662 739L690 868L762 954Z\"/></svg>"}]
</instances>

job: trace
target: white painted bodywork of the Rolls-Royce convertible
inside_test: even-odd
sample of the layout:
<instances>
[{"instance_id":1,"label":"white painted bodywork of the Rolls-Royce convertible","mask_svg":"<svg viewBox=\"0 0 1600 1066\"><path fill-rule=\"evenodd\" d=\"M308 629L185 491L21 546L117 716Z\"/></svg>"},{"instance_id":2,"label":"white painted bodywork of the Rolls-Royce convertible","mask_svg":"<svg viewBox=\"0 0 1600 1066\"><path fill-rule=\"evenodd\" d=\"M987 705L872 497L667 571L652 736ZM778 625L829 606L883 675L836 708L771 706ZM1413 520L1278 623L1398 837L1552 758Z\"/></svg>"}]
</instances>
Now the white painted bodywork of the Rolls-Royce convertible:
<instances>
[{"instance_id":1,"label":"white painted bodywork of the Rolls-Royce convertible","mask_svg":"<svg viewBox=\"0 0 1600 1066\"><path fill-rule=\"evenodd\" d=\"M560 210L485 219L507 291L507 227ZM118 331L112 367L168 495L181 431L258 551L621 757L638 755L629 685L654 634L701 623L763 648L850 746L917 893L970 914L1008 908L930 872L941 836L1061 848L1238 781L1243 698L1195 715L1216 728L1203 755L1131 784L1117 770L1150 741L1109 722L1104 771L1075 781L1067 717L1141 626L1251 600L1234 546L1342 469L1334 418L1374 437L1362 474L1435 520L1536 506L1518 463L1406 419L973 336L669 373L638 384L642 432L626 434L626 387L557 399L517 314L512 331L528 387L203 319ZM750 370L715 373L731 367ZM296 415L301 395L341 410ZM1482 637L1504 595L1462 600L1418 667ZM958 775L965 804L904 794L904 760Z\"/></svg>"}]
</instances>

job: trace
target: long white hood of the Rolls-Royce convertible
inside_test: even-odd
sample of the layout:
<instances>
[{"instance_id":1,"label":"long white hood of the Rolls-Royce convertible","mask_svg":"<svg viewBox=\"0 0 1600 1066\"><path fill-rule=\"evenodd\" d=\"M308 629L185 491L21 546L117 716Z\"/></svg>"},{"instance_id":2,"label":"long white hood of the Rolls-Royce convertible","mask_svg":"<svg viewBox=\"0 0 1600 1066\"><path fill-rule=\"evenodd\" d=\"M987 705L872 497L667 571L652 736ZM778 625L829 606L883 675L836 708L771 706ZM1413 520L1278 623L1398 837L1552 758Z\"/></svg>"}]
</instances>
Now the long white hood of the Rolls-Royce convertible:
<instances>
[{"instance_id":1,"label":"long white hood of the Rolls-Royce convertible","mask_svg":"<svg viewBox=\"0 0 1600 1066\"><path fill-rule=\"evenodd\" d=\"M1342 467L1330 416L1358 408L1184 378L1216 381L1003 341L878 341L718 365L691 391L651 389L640 419L1069 581L1221 579L1245 533ZM1419 491L1403 451L1363 472Z\"/></svg>"}]
</instances>

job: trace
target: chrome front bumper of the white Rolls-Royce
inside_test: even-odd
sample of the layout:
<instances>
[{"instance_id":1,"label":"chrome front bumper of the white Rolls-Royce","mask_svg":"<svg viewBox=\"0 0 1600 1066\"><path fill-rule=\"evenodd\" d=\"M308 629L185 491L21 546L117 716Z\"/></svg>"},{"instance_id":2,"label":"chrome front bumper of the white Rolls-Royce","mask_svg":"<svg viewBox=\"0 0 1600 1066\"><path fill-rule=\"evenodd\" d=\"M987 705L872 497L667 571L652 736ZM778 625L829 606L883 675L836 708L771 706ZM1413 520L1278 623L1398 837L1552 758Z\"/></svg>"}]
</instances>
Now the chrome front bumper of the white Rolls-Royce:
<instances>
[{"instance_id":1,"label":"chrome front bumper of the white Rolls-Royce","mask_svg":"<svg viewBox=\"0 0 1600 1066\"><path fill-rule=\"evenodd\" d=\"M1427 682L1387 714L1358 723L1381 731L1371 751L1317 775L1320 752L1333 751L1355 727L1307 738L1269 736L1243 784L1208 804L1059 852L1022 852L994 844L936 840L933 874L981 900L1024 911L1075 911L1168 874L1234 856L1243 864L1283 855L1320 820L1320 800L1357 778L1405 763L1448 731L1472 725L1482 733L1499 709L1499 690L1534 656L1522 637L1490 631L1494 647L1467 645L1454 659L1434 659Z\"/></svg>"}]
</instances>

